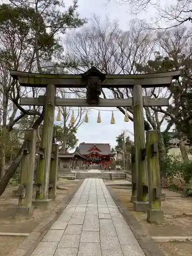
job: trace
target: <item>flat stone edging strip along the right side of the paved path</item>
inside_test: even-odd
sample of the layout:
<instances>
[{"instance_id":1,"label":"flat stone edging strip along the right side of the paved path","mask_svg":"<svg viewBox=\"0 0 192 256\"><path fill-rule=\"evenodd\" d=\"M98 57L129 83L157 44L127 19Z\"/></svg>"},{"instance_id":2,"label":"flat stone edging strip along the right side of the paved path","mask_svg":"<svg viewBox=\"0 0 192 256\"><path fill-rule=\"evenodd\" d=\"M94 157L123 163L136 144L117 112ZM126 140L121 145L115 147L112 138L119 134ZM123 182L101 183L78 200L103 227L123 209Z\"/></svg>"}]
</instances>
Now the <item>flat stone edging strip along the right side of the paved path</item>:
<instances>
[{"instance_id":1,"label":"flat stone edging strip along the right side of the paved path","mask_svg":"<svg viewBox=\"0 0 192 256\"><path fill-rule=\"evenodd\" d=\"M151 238L149 234L146 234L141 224L138 220L134 217L129 209L127 209L121 199L116 195L113 191L113 188L110 186L106 186L108 189L111 197L113 198L114 202L116 203L117 207L119 208L122 216L124 217L126 223L130 226L137 242L139 243L140 247L142 248L143 252L146 256L165 256L156 242Z\"/></svg>"}]
</instances>

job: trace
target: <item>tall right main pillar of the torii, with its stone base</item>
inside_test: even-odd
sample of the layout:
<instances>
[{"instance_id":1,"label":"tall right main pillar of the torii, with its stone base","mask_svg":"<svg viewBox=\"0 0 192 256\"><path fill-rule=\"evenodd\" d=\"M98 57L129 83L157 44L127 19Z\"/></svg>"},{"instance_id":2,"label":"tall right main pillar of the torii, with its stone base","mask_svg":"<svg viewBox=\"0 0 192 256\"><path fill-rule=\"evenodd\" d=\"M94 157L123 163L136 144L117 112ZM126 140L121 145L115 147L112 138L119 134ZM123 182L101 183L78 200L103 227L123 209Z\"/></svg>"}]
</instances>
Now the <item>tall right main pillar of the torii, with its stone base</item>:
<instances>
[{"instance_id":1,"label":"tall right main pillar of the torii, with its stone base","mask_svg":"<svg viewBox=\"0 0 192 256\"><path fill-rule=\"evenodd\" d=\"M135 140L135 162L137 177L137 201L134 202L136 211L146 211L147 201L147 179L146 179L146 148L143 117L142 87L136 84L133 87L133 116L134 116L134 140Z\"/></svg>"}]
</instances>

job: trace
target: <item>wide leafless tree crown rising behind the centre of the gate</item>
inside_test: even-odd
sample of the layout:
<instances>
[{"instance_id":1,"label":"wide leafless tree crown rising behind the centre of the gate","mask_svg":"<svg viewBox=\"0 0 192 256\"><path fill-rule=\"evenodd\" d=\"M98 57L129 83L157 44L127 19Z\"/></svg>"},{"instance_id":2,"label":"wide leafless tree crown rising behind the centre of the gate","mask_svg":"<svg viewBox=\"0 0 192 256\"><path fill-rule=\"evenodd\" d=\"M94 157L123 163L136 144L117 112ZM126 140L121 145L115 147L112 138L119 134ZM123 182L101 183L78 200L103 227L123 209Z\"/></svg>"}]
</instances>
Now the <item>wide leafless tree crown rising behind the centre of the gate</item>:
<instances>
[{"instance_id":1,"label":"wide leafless tree crown rising behind the centre of the gate","mask_svg":"<svg viewBox=\"0 0 192 256\"><path fill-rule=\"evenodd\" d=\"M106 18L102 24L94 17L92 25L80 32L68 36L66 43L67 59L75 63L70 72L84 72L92 65L106 74L138 73L135 64L144 65L153 55L155 47L154 34L144 29L142 21L134 20L126 32L118 28L117 22ZM79 90L83 93L84 91ZM132 91L127 89L102 90L103 98L129 98ZM119 108L125 114L126 109ZM133 120L133 109L128 109ZM148 122L145 120L145 124ZM145 125L145 126L146 126Z\"/></svg>"}]
</instances>

